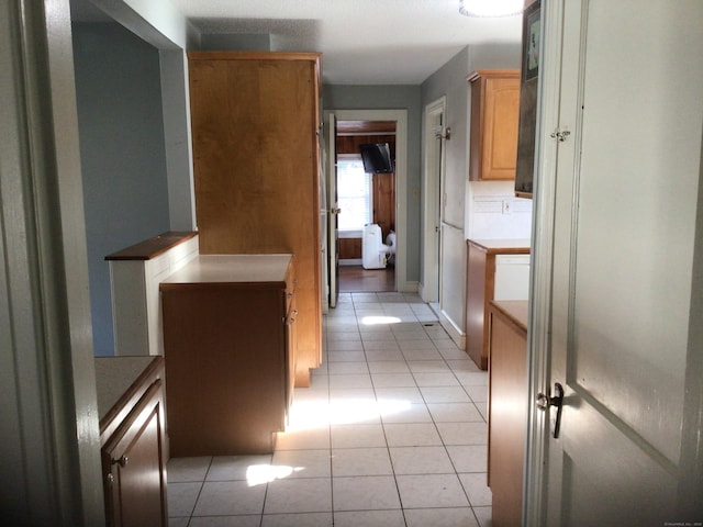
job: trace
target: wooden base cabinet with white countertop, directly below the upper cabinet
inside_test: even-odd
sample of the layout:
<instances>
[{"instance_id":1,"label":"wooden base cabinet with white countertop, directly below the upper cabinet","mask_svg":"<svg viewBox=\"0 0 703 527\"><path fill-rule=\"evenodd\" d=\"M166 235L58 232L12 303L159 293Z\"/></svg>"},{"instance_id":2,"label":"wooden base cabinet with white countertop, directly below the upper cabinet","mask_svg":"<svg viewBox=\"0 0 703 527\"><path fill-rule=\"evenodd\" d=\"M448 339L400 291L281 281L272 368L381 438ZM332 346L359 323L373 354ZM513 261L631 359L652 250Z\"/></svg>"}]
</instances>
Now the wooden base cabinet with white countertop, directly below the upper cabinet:
<instances>
[{"instance_id":1,"label":"wooden base cabinet with white countertop, directly below the upper cabinet","mask_svg":"<svg viewBox=\"0 0 703 527\"><path fill-rule=\"evenodd\" d=\"M488 368L488 310L491 301L525 300L529 285L528 267L520 269L518 273L511 272L505 277L506 284L499 276L498 282L503 283L498 283L498 258L528 254L529 242L525 239L467 240L466 350L482 370ZM514 283L516 280L521 283Z\"/></svg>"}]
</instances>

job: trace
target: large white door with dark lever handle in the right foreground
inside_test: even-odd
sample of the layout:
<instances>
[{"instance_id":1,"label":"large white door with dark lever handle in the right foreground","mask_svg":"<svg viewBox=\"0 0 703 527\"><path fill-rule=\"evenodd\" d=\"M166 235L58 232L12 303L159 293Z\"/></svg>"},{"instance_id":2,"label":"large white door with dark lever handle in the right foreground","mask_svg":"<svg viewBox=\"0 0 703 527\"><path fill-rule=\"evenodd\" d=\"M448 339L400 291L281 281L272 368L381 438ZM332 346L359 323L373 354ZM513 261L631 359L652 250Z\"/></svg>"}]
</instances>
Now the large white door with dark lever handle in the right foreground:
<instances>
[{"instance_id":1,"label":"large white door with dark lever handle in the right foreground","mask_svg":"<svg viewBox=\"0 0 703 527\"><path fill-rule=\"evenodd\" d=\"M703 2L543 9L526 523L701 525Z\"/></svg>"}]
</instances>

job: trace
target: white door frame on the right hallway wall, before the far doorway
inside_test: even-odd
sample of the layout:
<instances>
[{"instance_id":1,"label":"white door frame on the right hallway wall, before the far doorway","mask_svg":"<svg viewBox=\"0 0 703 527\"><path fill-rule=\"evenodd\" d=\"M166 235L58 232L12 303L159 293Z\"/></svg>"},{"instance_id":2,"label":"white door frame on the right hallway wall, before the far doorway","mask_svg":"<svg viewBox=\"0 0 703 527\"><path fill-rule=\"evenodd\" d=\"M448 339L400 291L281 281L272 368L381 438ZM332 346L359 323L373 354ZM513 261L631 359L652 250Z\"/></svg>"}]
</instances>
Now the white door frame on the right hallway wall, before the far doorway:
<instances>
[{"instance_id":1,"label":"white door frame on the right hallway wall, before the far doorway","mask_svg":"<svg viewBox=\"0 0 703 527\"><path fill-rule=\"evenodd\" d=\"M443 126L447 108L447 98L440 97L425 106L424 133L424 167L423 167L423 277L420 284L420 296L425 302L437 302L442 305L442 244L439 228L442 226L442 210L439 208L439 191L445 171L445 149L438 148L436 127ZM437 170L439 167L439 170Z\"/></svg>"}]
</instances>

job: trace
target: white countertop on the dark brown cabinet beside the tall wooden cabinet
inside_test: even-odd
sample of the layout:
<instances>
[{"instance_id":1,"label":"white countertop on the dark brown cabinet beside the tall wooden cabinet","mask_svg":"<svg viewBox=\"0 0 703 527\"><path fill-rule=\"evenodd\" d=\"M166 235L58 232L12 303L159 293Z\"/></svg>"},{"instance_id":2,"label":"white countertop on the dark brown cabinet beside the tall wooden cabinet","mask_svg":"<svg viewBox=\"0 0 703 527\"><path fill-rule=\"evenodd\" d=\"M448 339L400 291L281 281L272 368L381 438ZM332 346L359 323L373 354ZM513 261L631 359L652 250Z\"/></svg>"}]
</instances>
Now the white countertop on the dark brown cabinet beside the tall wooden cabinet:
<instances>
[{"instance_id":1,"label":"white countertop on the dark brown cabinet beside the tall wooden cabinet","mask_svg":"<svg viewBox=\"0 0 703 527\"><path fill-rule=\"evenodd\" d=\"M282 282L292 255L200 255L161 283Z\"/></svg>"}]
</instances>

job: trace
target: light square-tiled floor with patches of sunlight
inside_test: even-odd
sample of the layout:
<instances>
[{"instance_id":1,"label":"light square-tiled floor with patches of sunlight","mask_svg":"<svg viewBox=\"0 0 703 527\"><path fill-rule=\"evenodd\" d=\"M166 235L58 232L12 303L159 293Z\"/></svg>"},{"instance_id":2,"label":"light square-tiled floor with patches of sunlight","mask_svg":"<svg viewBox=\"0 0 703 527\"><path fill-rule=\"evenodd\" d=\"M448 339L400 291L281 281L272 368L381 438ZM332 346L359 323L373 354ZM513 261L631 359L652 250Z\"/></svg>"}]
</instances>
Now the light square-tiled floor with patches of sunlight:
<instances>
[{"instance_id":1,"label":"light square-tiled floor with patches of sunlight","mask_svg":"<svg viewBox=\"0 0 703 527\"><path fill-rule=\"evenodd\" d=\"M175 458L171 527L488 527L488 379L415 294L345 293L270 456Z\"/></svg>"}]
</instances>

